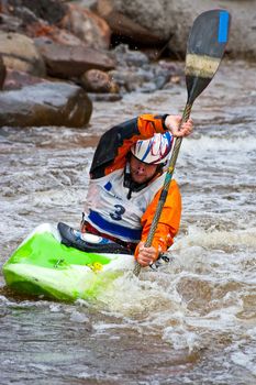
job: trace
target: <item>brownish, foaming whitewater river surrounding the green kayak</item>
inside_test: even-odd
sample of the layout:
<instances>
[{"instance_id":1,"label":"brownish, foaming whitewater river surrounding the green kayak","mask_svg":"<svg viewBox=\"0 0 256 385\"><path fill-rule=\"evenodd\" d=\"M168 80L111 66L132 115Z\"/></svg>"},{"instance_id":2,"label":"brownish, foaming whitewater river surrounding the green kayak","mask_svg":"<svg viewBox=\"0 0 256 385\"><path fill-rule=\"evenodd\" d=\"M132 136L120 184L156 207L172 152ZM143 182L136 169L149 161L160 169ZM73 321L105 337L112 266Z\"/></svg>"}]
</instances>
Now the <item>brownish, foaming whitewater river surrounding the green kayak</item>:
<instances>
[{"instance_id":1,"label":"brownish, foaming whitewater river surrounding the green kayak","mask_svg":"<svg viewBox=\"0 0 256 385\"><path fill-rule=\"evenodd\" d=\"M15 297L0 276L1 384L256 384L255 70L223 63L194 103L169 264L76 304ZM78 226L107 128L185 101L181 84L94 102L87 130L2 128L0 265L35 226Z\"/></svg>"}]
</instances>

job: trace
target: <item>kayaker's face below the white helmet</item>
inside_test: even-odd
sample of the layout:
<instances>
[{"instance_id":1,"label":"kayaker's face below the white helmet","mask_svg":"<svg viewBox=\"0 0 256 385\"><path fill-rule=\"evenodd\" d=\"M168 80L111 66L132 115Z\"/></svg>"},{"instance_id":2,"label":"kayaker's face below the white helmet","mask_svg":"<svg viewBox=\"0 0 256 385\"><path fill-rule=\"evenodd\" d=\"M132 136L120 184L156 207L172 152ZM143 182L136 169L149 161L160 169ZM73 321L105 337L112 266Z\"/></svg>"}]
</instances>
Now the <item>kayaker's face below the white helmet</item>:
<instances>
[{"instance_id":1,"label":"kayaker's face below the white helmet","mask_svg":"<svg viewBox=\"0 0 256 385\"><path fill-rule=\"evenodd\" d=\"M133 182L138 184L144 184L149 180L156 173L157 165L146 164L138 161L135 156L131 156L130 161L130 172Z\"/></svg>"}]
</instances>

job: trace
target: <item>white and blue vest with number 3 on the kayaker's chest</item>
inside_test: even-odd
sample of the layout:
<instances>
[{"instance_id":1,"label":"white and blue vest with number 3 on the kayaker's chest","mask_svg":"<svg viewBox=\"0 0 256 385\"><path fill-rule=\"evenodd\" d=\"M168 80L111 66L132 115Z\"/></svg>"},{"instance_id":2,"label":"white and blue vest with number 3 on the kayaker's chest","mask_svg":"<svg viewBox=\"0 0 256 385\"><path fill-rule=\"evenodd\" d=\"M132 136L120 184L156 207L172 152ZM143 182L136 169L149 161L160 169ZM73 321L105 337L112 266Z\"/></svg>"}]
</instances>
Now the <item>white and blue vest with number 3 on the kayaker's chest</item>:
<instances>
[{"instance_id":1,"label":"white and blue vest with number 3 on the kayaker's chest","mask_svg":"<svg viewBox=\"0 0 256 385\"><path fill-rule=\"evenodd\" d=\"M141 218L156 193L162 188L165 174L149 183L141 191L123 186L124 170L118 169L89 183L85 220L98 231L125 242L140 242Z\"/></svg>"}]
</instances>

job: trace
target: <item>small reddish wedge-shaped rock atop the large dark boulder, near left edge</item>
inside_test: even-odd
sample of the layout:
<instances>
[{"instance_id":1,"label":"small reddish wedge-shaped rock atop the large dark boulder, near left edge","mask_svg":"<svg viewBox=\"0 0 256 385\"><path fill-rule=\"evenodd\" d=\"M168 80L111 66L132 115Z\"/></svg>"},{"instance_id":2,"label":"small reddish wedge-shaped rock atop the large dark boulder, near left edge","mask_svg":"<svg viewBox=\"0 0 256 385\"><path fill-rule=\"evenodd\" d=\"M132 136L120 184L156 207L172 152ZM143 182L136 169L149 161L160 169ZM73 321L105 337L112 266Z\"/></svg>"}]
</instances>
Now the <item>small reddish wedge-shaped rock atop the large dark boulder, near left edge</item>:
<instances>
[{"instance_id":1,"label":"small reddish wedge-shaped rock atop the large dark boulder, near left edge","mask_svg":"<svg viewBox=\"0 0 256 385\"><path fill-rule=\"evenodd\" d=\"M3 84L3 90L7 91L11 89L20 89L24 86L32 86L38 82L49 82L49 81L36 76L32 76L26 73L22 73L21 70L8 69L7 77Z\"/></svg>"}]
</instances>

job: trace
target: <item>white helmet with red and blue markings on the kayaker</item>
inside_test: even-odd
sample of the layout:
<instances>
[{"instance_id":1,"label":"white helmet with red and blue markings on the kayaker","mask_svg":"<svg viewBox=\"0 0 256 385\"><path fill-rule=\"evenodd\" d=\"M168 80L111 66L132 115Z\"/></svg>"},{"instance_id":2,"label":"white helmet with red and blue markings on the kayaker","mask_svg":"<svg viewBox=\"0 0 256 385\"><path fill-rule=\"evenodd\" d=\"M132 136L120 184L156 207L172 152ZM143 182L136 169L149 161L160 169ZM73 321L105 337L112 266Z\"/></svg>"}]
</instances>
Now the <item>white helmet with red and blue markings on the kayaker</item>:
<instances>
[{"instance_id":1,"label":"white helmet with red and blue markings on the kayaker","mask_svg":"<svg viewBox=\"0 0 256 385\"><path fill-rule=\"evenodd\" d=\"M141 162L147 164L165 164L169 157L172 145L172 135L169 131L155 134L145 141L137 141L132 147L132 154Z\"/></svg>"}]
</instances>

